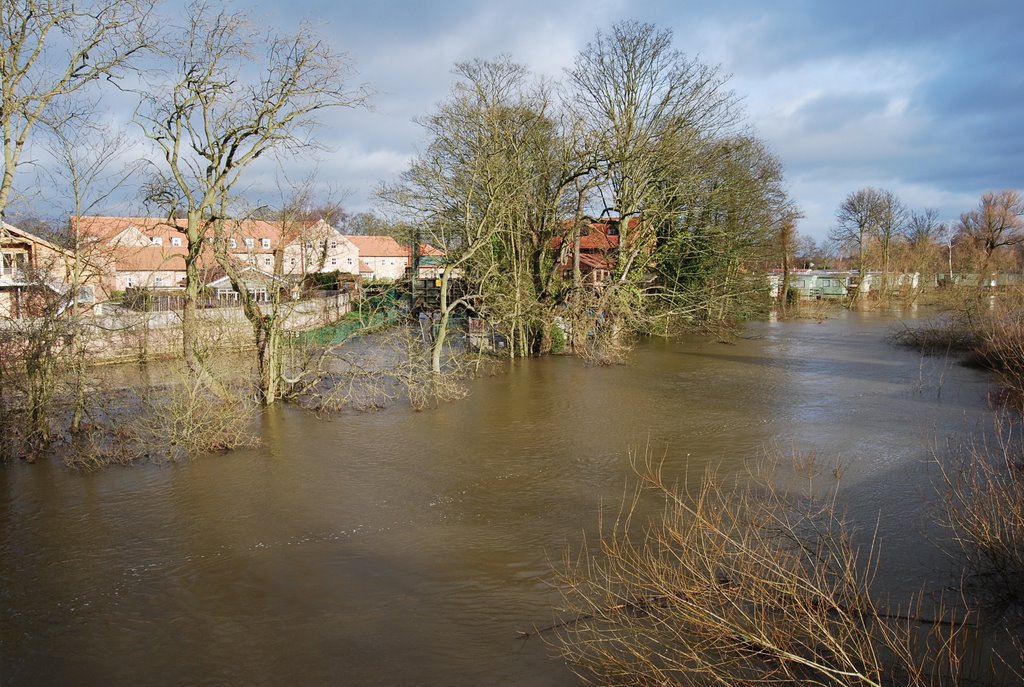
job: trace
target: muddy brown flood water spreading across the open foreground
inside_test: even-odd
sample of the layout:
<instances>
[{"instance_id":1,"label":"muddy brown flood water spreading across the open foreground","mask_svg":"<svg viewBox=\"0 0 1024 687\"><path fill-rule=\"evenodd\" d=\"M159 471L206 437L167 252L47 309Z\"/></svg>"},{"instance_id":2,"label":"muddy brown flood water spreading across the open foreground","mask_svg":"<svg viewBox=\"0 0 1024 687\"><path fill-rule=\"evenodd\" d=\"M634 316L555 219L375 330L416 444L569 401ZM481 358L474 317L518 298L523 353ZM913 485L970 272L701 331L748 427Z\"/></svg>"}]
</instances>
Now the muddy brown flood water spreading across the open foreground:
<instances>
[{"instance_id":1,"label":"muddy brown flood water spreading across the open foreground","mask_svg":"<svg viewBox=\"0 0 1024 687\"><path fill-rule=\"evenodd\" d=\"M941 589L928 463L984 424L989 380L889 345L897 323L518 361L422 413L278 409L259 447L178 465L0 466L0 684L577 685L516 633L558 617L551 566L645 446L673 475L839 460L880 584Z\"/></svg>"}]
</instances>

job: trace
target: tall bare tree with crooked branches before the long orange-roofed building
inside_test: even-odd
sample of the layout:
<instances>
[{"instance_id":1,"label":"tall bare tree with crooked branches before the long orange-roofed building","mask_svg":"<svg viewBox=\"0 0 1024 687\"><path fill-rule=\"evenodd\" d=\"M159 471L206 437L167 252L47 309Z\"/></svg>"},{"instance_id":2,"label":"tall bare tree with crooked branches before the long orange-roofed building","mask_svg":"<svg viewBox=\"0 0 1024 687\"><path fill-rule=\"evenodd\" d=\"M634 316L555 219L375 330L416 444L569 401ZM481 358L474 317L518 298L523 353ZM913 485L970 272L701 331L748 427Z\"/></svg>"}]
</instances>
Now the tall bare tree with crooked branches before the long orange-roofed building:
<instances>
[{"instance_id":1,"label":"tall bare tree with crooked branches before the long orange-roofed building","mask_svg":"<svg viewBox=\"0 0 1024 687\"><path fill-rule=\"evenodd\" d=\"M308 27L262 36L246 17L197 3L167 44L168 72L156 74L135 120L155 143L163 170L151 198L168 217L185 218L182 348L190 373L212 382L197 355L200 259L218 213L244 172L270 152L311 152L316 117L367 101L348 84L351 68Z\"/></svg>"}]
</instances>

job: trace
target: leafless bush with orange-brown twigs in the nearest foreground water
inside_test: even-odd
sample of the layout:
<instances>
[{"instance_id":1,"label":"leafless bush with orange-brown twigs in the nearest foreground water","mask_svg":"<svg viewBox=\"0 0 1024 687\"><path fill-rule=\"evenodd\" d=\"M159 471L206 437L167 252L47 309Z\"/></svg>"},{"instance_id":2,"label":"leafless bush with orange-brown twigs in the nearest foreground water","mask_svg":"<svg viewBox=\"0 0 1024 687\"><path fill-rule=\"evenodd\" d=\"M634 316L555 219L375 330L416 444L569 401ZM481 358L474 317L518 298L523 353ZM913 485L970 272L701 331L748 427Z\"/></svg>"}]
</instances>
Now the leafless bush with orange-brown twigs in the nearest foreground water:
<instances>
[{"instance_id":1,"label":"leafless bush with orange-brown twigs in the nearest foreground water","mask_svg":"<svg viewBox=\"0 0 1024 687\"><path fill-rule=\"evenodd\" d=\"M877 546L858 550L835 492L708 475L667 483L648 460L599 541L558 572L553 628L578 674L606 685L931 685L957 671L964 626L878 601ZM666 506L642 522L653 490Z\"/></svg>"}]
</instances>

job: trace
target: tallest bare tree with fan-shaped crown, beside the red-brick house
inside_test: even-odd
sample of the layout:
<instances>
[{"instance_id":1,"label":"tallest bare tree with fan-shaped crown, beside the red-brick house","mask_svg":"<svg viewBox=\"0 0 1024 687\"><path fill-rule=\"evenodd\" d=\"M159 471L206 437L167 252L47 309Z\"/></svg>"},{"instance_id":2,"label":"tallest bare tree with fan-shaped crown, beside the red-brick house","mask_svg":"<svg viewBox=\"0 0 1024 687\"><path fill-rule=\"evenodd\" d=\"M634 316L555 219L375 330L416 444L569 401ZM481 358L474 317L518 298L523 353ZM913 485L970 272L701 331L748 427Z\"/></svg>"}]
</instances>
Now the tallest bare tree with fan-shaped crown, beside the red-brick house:
<instances>
[{"instance_id":1,"label":"tallest bare tree with fan-shaped crown, beside the red-brick house","mask_svg":"<svg viewBox=\"0 0 1024 687\"><path fill-rule=\"evenodd\" d=\"M655 227L673 222L689 189L669 170L689 170L701 142L738 120L719 71L672 46L672 32L626 22L598 32L568 72L573 108L602 161L603 209L618 217L620 282L649 266ZM631 223L631 218L643 221ZM636 234L636 235L634 235Z\"/></svg>"}]
</instances>

